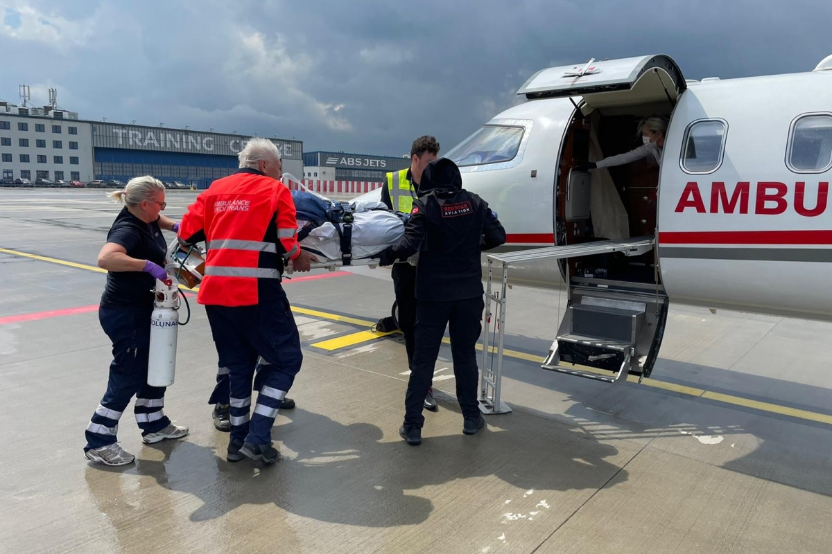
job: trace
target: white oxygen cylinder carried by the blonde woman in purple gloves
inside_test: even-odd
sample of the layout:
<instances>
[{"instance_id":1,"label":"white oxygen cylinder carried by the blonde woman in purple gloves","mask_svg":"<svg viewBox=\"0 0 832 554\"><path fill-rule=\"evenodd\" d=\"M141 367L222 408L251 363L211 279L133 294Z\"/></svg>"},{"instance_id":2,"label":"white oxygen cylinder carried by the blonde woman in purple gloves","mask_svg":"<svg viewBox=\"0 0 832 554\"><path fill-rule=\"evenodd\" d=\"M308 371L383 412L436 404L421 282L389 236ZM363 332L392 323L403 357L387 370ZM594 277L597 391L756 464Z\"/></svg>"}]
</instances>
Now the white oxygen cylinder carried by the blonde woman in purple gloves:
<instances>
[{"instance_id":1,"label":"white oxygen cylinder carried by the blonde woman in purple gloves","mask_svg":"<svg viewBox=\"0 0 832 554\"><path fill-rule=\"evenodd\" d=\"M156 302L151 315L150 358L147 361L147 384L156 387L173 385L176 371L176 336L179 332L179 287L168 277L156 279Z\"/></svg>"}]
</instances>

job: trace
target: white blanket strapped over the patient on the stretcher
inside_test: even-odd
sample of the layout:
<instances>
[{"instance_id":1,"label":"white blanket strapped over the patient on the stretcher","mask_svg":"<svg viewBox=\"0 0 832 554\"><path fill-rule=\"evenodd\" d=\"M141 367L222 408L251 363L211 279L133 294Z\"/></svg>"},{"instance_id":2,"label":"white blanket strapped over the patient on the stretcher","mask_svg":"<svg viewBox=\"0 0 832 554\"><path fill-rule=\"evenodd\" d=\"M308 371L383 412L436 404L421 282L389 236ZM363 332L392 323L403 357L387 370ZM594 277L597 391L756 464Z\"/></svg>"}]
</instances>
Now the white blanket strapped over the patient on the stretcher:
<instances>
[{"instance_id":1,"label":"white blanket strapped over the patient on the stretcher","mask_svg":"<svg viewBox=\"0 0 832 554\"><path fill-rule=\"evenodd\" d=\"M303 228L308 222L298 221ZM339 223L343 228L343 223ZM376 257L385 248L399 242L404 234L404 223L395 213L384 210L353 214L353 258ZM341 238L333 223L314 228L308 237L300 241L300 248L321 254L329 260L341 259Z\"/></svg>"}]
</instances>

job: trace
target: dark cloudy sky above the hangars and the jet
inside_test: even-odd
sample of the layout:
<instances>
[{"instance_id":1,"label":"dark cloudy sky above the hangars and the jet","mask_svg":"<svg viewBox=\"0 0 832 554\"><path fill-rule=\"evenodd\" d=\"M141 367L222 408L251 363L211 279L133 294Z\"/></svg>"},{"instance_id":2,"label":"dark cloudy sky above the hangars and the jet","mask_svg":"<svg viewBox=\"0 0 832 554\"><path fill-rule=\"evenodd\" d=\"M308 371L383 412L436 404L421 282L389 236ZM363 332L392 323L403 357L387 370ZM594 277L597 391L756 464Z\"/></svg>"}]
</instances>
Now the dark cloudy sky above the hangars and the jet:
<instances>
[{"instance_id":1,"label":"dark cloudy sky above the hangars and the jet","mask_svg":"<svg viewBox=\"0 0 832 554\"><path fill-rule=\"evenodd\" d=\"M665 53L687 78L811 71L829 0L0 0L0 99L83 119L443 151L535 71Z\"/></svg>"}]
</instances>

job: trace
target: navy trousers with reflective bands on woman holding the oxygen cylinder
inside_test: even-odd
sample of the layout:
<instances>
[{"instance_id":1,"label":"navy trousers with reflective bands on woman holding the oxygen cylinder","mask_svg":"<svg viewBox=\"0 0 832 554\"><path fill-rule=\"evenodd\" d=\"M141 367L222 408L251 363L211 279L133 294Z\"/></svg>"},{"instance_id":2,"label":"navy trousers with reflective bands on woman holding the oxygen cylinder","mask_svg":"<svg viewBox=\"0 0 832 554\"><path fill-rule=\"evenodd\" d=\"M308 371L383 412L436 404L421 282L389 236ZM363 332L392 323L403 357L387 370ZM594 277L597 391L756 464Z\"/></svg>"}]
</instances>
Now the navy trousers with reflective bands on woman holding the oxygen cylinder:
<instances>
[{"instance_id":1,"label":"navy trousers with reflective bands on woman holding the oxygen cylinder","mask_svg":"<svg viewBox=\"0 0 832 554\"><path fill-rule=\"evenodd\" d=\"M151 312L98 308L98 321L112 341L112 363L104 398L87 425L85 451L116 442L118 420L133 395L136 395L133 412L142 435L156 433L171 424L162 410L165 387L147 385Z\"/></svg>"}]
</instances>

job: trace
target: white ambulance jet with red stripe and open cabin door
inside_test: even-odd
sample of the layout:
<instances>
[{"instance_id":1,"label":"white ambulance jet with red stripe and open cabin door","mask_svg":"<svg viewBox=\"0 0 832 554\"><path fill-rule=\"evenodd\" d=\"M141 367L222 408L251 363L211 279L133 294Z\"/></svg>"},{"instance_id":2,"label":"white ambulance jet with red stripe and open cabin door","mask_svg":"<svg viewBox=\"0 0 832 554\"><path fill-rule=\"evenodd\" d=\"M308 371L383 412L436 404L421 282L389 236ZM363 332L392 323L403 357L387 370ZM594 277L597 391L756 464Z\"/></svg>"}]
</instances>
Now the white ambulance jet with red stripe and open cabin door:
<instances>
[{"instance_id":1,"label":"white ambulance jet with red stripe and open cabin door","mask_svg":"<svg viewBox=\"0 0 832 554\"><path fill-rule=\"evenodd\" d=\"M702 81L668 56L590 61L538 71L526 102L449 150L505 248L549 247L509 282L568 288L543 366L649 376L670 302L832 321L830 91L832 56ZM640 145L648 115L669 118L661 167L573 170Z\"/></svg>"}]
</instances>

